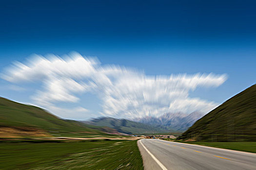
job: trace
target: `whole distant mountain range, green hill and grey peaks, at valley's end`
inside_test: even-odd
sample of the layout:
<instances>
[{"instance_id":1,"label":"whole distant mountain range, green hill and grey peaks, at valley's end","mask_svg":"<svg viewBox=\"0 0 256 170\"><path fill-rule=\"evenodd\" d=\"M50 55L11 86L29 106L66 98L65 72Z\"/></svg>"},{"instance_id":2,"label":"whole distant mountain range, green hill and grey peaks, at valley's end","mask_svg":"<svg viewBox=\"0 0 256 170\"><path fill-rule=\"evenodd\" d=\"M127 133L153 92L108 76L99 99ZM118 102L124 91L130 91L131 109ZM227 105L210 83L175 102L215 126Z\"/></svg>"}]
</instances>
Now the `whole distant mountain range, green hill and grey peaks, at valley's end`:
<instances>
[{"instance_id":1,"label":"whole distant mountain range, green hill and grey peaks, at valley's end","mask_svg":"<svg viewBox=\"0 0 256 170\"><path fill-rule=\"evenodd\" d=\"M160 117L144 117L133 120L102 117L82 122L96 126L110 127L125 134L167 133L185 131L203 115L201 112L193 112L191 114L178 112L165 113Z\"/></svg>"}]
</instances>

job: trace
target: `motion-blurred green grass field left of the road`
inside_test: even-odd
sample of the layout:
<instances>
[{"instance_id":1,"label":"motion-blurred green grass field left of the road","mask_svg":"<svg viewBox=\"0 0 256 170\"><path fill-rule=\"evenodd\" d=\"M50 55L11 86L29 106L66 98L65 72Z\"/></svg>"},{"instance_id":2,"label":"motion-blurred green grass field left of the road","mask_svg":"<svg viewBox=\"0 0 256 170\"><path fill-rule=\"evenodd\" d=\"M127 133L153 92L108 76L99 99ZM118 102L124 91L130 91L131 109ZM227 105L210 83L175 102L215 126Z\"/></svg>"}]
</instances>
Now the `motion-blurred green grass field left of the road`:
<instances>
[{"instance_id":1,"label":"motion-blurred green grass field left of the road","mask_svg":"<svg viewBox=\"0 0 256 170\"><path fill-rule=\"evenodd\" d=\"M0 143L1 170L143 170L137 141Z\"/></svg>"}]
</instances>

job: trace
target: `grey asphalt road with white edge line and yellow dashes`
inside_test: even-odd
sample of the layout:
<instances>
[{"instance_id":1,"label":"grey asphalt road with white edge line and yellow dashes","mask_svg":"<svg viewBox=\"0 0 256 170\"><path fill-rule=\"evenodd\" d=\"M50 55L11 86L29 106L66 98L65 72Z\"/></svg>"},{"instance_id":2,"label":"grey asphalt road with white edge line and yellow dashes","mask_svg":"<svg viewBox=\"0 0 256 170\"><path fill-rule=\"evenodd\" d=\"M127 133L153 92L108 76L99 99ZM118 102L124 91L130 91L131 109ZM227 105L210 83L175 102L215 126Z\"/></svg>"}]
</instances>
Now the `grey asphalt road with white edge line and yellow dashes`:
<instances>
[{"instance_id":1,"label":"grey asphalt road with white edge line and yellow dashes","mask_svg":"<svg viewBox=\"0 0 256 170\"><path fill-rule=\"evenodd\" d=\"M212 147L140 139L145 170L256 170L256 154Z\"/></svg>"}]
</instances>

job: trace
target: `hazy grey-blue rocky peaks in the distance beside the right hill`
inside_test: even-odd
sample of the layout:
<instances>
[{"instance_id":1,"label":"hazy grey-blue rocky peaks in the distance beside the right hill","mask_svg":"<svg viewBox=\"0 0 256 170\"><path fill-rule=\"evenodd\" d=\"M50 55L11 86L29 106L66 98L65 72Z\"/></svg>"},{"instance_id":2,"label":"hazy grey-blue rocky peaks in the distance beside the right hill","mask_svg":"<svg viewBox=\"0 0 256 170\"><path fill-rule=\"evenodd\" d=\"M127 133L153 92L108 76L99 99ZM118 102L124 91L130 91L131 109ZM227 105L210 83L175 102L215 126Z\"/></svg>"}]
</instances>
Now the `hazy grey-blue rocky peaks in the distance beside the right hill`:
<instances>
[{"instance_id":1,"label":"hazy grey-blue rocky peaks in the distance beside the right hill","mask_svg":"<svg viewBox=\"0 0 256 170\"><path fill-rule=\"evenodd\" d=\"M203 115L201 112L193 112L189 115L181 112L165 113L160 117L144 117L136 121L163 129L185 131Z\"/></svg>"}]
</instances>

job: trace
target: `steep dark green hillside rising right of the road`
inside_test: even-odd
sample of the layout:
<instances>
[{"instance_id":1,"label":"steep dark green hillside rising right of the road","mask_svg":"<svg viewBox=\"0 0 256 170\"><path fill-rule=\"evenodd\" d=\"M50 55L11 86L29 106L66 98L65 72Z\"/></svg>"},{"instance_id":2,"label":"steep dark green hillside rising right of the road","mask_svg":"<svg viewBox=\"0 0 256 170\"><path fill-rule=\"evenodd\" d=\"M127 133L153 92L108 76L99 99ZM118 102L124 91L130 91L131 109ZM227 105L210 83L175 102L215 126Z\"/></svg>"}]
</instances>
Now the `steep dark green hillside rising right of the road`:
<instances>
[{"instance_id":1,"label":"steep dark green hillside rising right of the road","mask_svg":"<svg viewBox=\"0 0 256 170\"><path fill-rule=\"evenodd\" d=\"M256 141L256 85L222 103L178 139Z\"/></svg>"}]
</instances>

